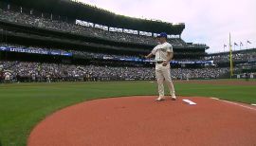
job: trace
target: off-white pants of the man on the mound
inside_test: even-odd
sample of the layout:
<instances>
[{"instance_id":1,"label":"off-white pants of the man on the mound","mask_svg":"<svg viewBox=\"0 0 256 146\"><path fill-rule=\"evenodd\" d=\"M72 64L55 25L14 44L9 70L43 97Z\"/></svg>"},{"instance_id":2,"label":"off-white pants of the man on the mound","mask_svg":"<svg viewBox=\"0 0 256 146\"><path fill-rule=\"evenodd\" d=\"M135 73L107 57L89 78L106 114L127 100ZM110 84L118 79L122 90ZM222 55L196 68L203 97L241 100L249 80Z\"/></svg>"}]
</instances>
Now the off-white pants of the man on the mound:
<instances>
[{"instance_id":1,"label":"off-white pants of the man on the mound","mask_svg":"<svg viewBox=\"0 0 256 146\"><path fill-rule=\"evenodd\" d=\"M155 64L155 77L158 84L159 97L164 97L164 82L167 83L170 95L175 96L174 83L172 82L170 64L163 66L162 64Z\"/></svg>"}]
</instances>

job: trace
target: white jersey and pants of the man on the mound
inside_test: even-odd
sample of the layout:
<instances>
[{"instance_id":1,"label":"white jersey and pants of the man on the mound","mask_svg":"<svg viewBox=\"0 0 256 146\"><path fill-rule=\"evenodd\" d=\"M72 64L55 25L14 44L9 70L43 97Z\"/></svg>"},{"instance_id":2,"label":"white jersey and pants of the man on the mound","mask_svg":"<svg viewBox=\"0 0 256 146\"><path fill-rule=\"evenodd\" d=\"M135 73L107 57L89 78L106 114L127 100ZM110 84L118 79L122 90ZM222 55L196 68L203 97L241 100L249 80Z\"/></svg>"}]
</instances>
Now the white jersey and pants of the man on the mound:
<instances>
[{"instance_id":1,"label":"white jersey and pants of the man on the mound","mask_svg":"<svg viewBox=\"0 0 256 146\"><path fill-rule=\"evenodd\" d=\"M173 46L167 42L157 45L152 50L155 55L155 77L158 84L159 97L164 97L164 84L165 81L169 87L170 95L175 98L174 83L171 78L170 64L163 66L162 63L167 61L167 52L173 52Z\"/></svg>"}]
</instances>

